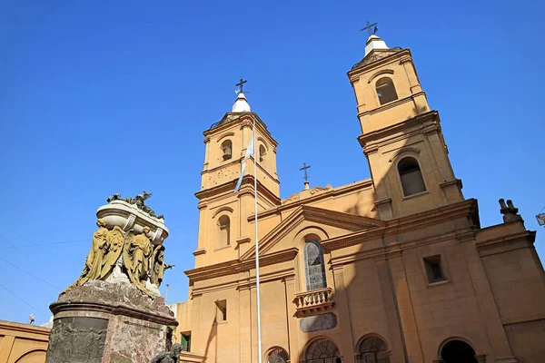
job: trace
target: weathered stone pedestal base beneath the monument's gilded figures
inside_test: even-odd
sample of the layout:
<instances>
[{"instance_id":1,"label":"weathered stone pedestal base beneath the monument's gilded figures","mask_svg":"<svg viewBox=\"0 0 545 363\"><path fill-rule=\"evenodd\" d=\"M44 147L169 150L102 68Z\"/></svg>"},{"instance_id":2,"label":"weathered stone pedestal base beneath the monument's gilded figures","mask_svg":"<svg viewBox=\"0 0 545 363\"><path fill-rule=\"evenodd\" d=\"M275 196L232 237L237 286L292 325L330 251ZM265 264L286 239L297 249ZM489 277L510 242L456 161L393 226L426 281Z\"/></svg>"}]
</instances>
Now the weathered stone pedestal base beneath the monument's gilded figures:
<instances>
[{"instance_id":1,"label":"weathered stone pedestal base beneath the monument's gilded figures","mask_svg":"<svg viewBox=\"0 0 545 363\"><path fill-rule=\"evenodd\" d=\"M178 322L163 298L133 285L85 282L59 296L46 363L149 363L170 349L169 327Z\"/></svg>"}]
</instances>

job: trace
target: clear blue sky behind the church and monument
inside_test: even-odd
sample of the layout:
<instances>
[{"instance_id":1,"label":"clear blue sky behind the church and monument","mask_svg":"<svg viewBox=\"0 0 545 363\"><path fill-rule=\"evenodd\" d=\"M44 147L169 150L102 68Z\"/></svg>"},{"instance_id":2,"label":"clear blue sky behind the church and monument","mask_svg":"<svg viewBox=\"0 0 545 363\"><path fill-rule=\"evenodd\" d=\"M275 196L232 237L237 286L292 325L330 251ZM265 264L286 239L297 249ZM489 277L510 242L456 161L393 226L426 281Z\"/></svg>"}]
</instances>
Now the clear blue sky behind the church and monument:
<instances>
[{"instance_id":1,"label":"clear blue sky behind the church and monument","mask_svg":"<svg viewBox=\"0 0 545 363\"><path fill-rule=\"evenodd\" d=\"M169 301L186 299L202 132L230 111L240 77L279 142L282 198L302 189L302 162L312 185L369 178L346 76L367 20L411 48L481 225L501 221L505 198L540 229L542 2L114 3L0 3L0 319L49 318L114 192L153 191L171 230Z\"/></svg>"}]
</instances>

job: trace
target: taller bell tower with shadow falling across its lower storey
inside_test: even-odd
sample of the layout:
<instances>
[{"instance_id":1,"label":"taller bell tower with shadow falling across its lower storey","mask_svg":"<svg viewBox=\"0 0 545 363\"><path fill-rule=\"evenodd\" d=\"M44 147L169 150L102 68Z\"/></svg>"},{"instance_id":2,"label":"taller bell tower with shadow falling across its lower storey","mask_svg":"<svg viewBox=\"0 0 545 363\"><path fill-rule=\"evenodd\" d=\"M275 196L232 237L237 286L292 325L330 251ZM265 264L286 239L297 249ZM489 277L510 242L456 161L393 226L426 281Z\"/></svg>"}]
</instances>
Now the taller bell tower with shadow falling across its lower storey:
<instances>
[{"instance_id":1,"label":"taller bell tower with shadow falling across its lower storey","mask_svg":"<svg viewBox=\"0 0 545 363\"><path fill-rule=\"evenodd\" d=\"M348 72L358 103L362 145L382 220L462 201L441 132L411 51L370 34L362 61Z\"/></svg>"}]
</instances>

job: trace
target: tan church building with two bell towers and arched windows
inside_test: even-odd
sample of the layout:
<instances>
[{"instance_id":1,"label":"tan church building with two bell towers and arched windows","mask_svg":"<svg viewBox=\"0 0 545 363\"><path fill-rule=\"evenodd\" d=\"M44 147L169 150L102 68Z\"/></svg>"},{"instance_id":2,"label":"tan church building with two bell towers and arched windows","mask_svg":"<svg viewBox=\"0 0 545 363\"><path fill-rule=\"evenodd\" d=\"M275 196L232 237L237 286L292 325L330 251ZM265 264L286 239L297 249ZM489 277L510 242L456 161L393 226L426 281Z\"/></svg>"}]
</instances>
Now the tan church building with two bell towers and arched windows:
<instances>
[{"instance_id":1,"label":"tan church building with two bell towers and arched windows","mask_svg":"<svg viewBox=\"0 0 545 363\"><path fill-rule=\"evenodd\" d=\"M371 179L281 200L277 142L243 93L203 132L195 266L189 299L172 305L186 357L258 361L257 168L263 361L543 361L535 231L503 200L503 222L481 227L409 49L371 35L348 76ZM257 160L235 193L253 123Z\"/></svg>"}]
</instances>

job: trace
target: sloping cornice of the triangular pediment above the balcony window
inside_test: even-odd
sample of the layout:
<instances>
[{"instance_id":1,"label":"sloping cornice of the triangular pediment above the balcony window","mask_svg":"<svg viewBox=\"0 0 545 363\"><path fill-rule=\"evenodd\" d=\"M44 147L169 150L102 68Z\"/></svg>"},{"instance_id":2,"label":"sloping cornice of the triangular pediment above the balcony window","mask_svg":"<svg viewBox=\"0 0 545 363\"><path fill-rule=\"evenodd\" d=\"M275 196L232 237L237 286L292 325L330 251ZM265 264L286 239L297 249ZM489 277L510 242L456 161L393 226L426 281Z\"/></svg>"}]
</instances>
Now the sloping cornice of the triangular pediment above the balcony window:
<instances>
[{"instance_id":1,"label":"sloping cornice of the triangular pediment above the balcony window","mask_svg":"<svg viewBox=\"0 0 545 363\"><path fill-rule=\"evenodd\" d=\"M347 233L382 227L386 224L384 221L370 217L301 205L293 211L288 218L278 224L259 241L260 254L271 251L274 245L279 243L304 221L315 223L317 227L331 226L339 228ZM240 260L243 261L253 258L255 258L255 247L244 253Z\"/></svg>"}]
</instances>

